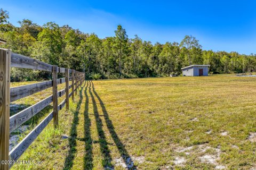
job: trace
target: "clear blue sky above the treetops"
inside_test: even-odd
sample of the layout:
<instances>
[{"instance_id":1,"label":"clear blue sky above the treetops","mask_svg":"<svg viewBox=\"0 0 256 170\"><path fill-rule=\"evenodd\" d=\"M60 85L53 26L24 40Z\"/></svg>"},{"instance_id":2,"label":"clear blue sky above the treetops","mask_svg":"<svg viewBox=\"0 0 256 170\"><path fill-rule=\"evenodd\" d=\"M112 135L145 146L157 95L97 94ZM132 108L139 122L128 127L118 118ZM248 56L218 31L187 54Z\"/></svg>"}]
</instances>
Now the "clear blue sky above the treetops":
<instances>
[{"instance_id":1,"label":"clear blue sky above the treetops","mask_svg":"<svg viewBox=\"0 0 256 170\"><path fill-rule=\"evenodd\" d=\"M68 24L100 38L114 36L118 24L129 38L178 42L195 36L203 49L256 53L256 1L0 1L9 21Z\"/></svg>"}]
</instances>

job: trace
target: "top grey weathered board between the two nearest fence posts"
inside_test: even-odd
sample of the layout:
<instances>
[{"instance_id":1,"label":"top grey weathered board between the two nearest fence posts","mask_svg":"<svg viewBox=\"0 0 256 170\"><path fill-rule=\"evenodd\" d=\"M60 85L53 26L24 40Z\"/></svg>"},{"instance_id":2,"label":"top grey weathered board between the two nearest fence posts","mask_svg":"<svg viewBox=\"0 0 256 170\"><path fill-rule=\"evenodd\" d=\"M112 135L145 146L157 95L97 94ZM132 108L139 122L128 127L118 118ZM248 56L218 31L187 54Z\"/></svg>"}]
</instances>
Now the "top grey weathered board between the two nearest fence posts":
<instances>
[{"instance_id":1,"label":"top grey weathered board between the two nearest fence posts","mask_svg":"<svg viewBox=\"0 0 256 170\"><path fill-rule=\"evenodd\" d=\"M47 64L16 53L11 54L11 67L52 72L51 64Z\"/></svg>"}]
</instances>

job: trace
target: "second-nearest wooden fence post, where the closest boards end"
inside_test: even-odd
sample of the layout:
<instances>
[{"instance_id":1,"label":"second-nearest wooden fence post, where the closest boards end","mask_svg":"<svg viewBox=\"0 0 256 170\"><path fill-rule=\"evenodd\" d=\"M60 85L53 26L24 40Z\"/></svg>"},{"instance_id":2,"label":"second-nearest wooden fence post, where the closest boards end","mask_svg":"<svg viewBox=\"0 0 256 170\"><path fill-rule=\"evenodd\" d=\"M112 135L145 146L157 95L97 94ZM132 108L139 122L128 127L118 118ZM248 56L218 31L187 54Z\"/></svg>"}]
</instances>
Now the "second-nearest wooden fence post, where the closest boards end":
<instances>
[{"instance_id":1,"label":"second-nearest wooden fence post, where the closest boards end","mask_svg":"<svg viewBox=\"0 0 256 170\"><path fill-rule=\"evenodd\" d=\"M57 65L52 66L52 104L53 104L53 124L54 128L57 129L59 126L59 118L58 118L58 82L57 82Z\"/></svg>"}]
</instances>

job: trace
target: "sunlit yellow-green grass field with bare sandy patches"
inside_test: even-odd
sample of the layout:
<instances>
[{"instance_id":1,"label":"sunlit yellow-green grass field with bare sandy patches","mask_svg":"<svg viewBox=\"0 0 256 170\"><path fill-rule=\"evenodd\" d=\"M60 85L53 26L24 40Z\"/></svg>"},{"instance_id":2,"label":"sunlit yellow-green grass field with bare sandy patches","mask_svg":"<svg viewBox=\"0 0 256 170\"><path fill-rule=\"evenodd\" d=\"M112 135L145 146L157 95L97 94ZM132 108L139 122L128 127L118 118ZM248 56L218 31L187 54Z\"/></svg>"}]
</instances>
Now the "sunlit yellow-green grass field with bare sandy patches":
<instances>
[{"instance_id":1,"label":"sunlit yellow-green grass field with bare sandy patches","mask_svg":"<svg viewBox=\"0 0 256 170\"><path fill-rule=\"evenodd\" d=\"M255 87L231 74L86 81L20 158L43 165L13 169L256 169Z\"/></svg>"}]
</instances>

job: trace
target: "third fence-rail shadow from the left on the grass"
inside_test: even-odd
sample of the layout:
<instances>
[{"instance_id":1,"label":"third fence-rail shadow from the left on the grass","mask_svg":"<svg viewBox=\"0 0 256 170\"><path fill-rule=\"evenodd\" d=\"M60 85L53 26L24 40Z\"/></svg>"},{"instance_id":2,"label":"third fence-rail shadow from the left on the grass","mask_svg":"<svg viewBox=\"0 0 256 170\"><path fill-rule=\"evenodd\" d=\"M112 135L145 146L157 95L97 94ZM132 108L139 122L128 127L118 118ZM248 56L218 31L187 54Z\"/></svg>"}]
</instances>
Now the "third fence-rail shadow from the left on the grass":
<instances>
[{"instance_id":1,"label":"third fence-rail shadow from the left on the grass","mask_svg":"<svg viewBox=\"0 0 256 170\"><path fill-rule=\"evenodd\" d=\"M108 148L108 143L107 143L107 140L105 137L105 133L102 129L103 128L102 120L101 120L99 112L98 112L98 107L97 107L95 98L91 91L91 81L90 81L90 86L89 86L89 94L92 98L93 112L94 112L94 117L95 117L95 121L96 121L97 132L99 135L100 151L103 156L102 166L105 169L114 169L113 165L111 165L112 158L110 156L110 150Z\"/></svg>"}]
</instances>

